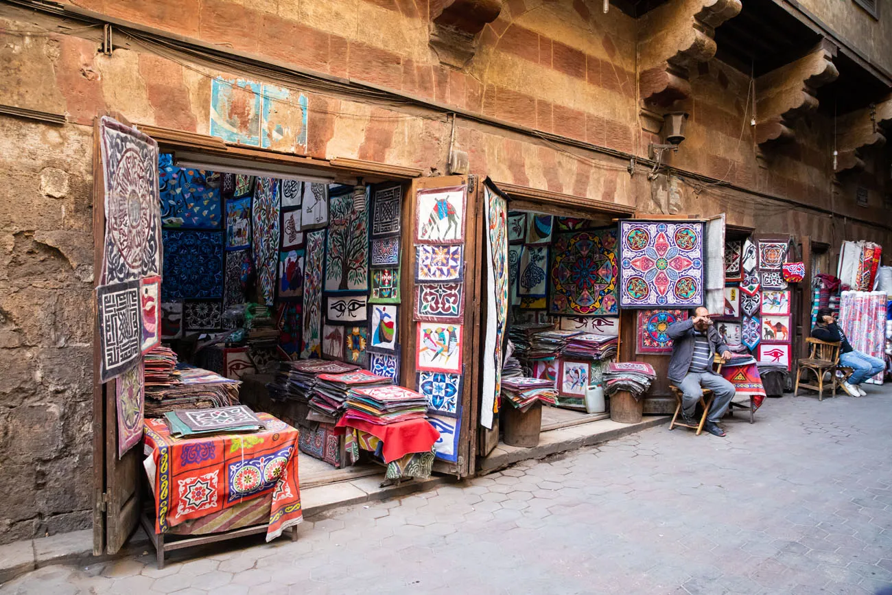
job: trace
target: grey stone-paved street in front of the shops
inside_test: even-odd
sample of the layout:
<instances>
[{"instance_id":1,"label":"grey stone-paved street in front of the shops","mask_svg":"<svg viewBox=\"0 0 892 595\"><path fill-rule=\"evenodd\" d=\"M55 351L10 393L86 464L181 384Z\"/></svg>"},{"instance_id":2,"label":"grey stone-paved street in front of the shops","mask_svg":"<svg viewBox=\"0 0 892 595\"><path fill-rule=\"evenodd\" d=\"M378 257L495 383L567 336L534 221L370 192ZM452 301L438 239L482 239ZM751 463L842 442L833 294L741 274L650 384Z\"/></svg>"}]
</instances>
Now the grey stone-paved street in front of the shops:
<instances>
[{"instance_id":1,"label":"grey stone-paved street in front of the shops","mask_svg":"<svg viewBox=\"0 0 892 595\"><path fill-rule=\"evenodd\" d=\"M892 583L892 389L867 390L338 510L297 542L48 566L0 594L873 593Z\"/></svg>"}]
</instances>

